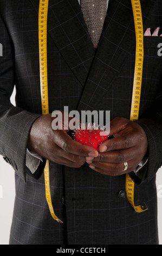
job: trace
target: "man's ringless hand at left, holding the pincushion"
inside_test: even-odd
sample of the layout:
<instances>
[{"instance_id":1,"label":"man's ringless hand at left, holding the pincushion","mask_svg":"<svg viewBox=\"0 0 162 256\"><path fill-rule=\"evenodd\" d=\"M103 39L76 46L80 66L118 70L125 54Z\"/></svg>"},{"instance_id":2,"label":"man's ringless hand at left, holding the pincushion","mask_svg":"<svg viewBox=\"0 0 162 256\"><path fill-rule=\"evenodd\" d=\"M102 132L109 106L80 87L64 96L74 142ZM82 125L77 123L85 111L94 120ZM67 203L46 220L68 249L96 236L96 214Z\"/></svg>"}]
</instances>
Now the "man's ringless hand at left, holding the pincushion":
<instances>
[{"instance_id":1,"label":"man's ringless hand at left, holding the pincushion","mask_svg":"<svg viewBox=\"0 0 162 256\"><path fill-rule=\"evenodd\" d=\"M67 124L62 122L62 130L53 130L51 127L53 120L51 114L47 114L35 121L29 135L29 150L51 162L74 168L81 167L86 162L85 157L98 156L97 150L74 141L67 134L69 132Z\"/></svg>"}]
</instances>

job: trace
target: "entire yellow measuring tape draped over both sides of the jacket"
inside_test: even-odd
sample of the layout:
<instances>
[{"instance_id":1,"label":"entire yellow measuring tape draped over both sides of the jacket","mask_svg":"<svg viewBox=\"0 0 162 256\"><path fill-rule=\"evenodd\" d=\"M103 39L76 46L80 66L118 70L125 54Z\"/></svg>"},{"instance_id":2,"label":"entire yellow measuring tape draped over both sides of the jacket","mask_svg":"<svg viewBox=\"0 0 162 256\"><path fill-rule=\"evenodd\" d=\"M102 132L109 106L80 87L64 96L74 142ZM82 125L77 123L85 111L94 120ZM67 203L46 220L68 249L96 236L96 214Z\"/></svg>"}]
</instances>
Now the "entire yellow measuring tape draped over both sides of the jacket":
<instances>
[{"instance_id":1,"label":"entire yellow measuring tape draped over both sides of the jacket","mask_svg":"<svg viewBox=\"0 0 162 256\"><path fill-rule=\"evenodd\" d=\"M40 81L41 81L41 102L42 102L42 114L49 114L49 102L48 102L48 72L47 72L47 16L48 16L48 1L40 0L40 7L38 13L38 35L39 35L39 52L40 52ZM134 70L134 84L132 94L132 106L130 120L137 121L139 115L140 106L140 94L142 83L142 66L144 60L144 39L143 39L143 25L142 25L142 12L140 0L131 0L134 25L136 34L136 58L135 58L135 70ZM44 180L46 186L46 199L49 206L50 214L55 221L63 223L54 213L53 205L51 202L50 194L50 181L49 181L49 161L47 160L46 167L44 169ZM147 210L146 204L134 205L134 182L126 174L126 194L129 203L132 205L135 211L143 212Z\"/></svg>"}]
</instances>

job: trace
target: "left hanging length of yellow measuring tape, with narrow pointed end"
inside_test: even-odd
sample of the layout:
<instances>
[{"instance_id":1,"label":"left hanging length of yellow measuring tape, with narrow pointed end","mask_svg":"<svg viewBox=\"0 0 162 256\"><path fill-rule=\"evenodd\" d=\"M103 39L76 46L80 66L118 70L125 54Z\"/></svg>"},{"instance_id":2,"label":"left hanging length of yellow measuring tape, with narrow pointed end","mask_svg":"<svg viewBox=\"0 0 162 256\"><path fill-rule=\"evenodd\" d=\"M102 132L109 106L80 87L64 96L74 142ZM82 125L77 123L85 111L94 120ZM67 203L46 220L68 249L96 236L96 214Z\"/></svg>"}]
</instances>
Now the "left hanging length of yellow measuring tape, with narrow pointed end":
<instances>
[{"instance_id":1,"label":"left hanging length of yellow measuring tape, with narrow pointed end","mask_svg":"<svg viewBox=\"0 0 162 256\"><path fill-rule=\"evenodd\" d=\"M41 82L41 103L42 114L49 114L48 102L48 72L47 72L47 16L48 16L48 0L40 0L38 14L38 34L39 34L39 54L40 54L40 82ZM55 221L63 223L54 213L51 202L50 182L49 182L49 161L47 160L44 168L44 181L46 187L46 199L51 216Z\"/></svg>"}]
</instances>

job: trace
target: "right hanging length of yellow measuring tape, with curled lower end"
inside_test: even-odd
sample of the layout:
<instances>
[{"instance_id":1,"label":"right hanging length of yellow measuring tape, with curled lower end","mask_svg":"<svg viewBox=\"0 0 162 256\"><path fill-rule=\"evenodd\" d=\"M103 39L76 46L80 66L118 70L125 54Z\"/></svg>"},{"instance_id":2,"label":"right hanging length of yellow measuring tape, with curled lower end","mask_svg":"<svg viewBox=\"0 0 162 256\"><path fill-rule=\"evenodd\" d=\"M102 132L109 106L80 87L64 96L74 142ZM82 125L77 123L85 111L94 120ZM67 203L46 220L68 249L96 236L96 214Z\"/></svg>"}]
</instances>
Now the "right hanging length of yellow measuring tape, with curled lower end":
<instances>
[{"instance_id":1,"label":"right hanging length of yellow measuring tape, with curled lower end","mask_svg":"<svg viewBox=\"0 0 162 256\"><path fill-rule=\"evenodd\" d=\"M144 29L142 23L142 11L140 0L131 0L134 16L134 26L136 35L136 51L135 51L135 69L134 69L134 83L132 93L132 105L130 120L137 121L139 116L140 95L142 85L142 70L144 62ZM126 194L129 203L136 212L146 211L148 208L145 203L134 205L134 182L129 174L126 174Z\"/></svg>"}]
</instances>

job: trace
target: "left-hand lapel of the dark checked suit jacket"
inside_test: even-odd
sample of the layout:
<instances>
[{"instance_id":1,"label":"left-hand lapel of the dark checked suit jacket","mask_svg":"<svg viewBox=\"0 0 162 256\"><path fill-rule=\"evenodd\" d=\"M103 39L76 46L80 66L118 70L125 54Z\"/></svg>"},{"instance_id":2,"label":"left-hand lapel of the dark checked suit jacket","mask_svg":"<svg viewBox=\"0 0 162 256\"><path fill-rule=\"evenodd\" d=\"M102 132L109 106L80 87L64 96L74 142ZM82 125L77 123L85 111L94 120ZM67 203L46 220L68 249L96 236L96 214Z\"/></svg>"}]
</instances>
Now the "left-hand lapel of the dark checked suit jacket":
<instances>
[{"instance_id":1,"label":"left-hand lapel of the dark checked suit jacket","mask_svg":"<svg viewBox=\"0 0 162 256\"><path fill-rule=\"evenodd\" d=\"M39 0L30 0L37 13ZM49 0L48 33L62 57L84 86L95 49L77 0Z\"/></svg>"}]
</instances>

